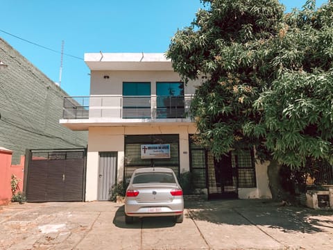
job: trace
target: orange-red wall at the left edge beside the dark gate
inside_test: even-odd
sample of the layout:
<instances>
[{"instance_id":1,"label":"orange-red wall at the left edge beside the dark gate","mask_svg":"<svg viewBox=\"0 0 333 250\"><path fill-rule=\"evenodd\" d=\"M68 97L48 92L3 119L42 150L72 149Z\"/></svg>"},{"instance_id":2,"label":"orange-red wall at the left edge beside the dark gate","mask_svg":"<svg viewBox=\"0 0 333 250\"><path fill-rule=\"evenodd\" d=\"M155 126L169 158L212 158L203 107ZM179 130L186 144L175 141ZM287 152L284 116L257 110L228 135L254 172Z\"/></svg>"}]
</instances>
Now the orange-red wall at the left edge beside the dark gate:
<instances>
[{"instance_id":1,"label":"orange-red wall at the left edge beside the dark gate","mask_svg":"<svg viewBox=\"0 0 333 250\"><path fill-rule=\"evenodd\" d=\"M12 151L0 148L0 206L8 204L12 198L10 187L12 174L22 180L19 182L19 191L23 191L24 156L21 156L19 165L11 165L11 162Z\"/></svg>"}]
</instances>

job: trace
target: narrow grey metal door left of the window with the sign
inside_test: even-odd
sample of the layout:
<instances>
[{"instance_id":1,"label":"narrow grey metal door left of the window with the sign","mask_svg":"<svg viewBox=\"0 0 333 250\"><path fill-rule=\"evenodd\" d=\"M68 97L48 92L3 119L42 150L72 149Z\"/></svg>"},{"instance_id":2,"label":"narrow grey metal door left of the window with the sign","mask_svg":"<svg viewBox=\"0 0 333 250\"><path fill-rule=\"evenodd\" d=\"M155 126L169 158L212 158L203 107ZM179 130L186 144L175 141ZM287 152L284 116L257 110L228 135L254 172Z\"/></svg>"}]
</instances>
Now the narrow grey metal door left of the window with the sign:
<instances>
[{"instance_id":1,"label":"narrow grey metal door left of the window with the sign","mask_svg":"<svg viewBox=\"0 0 333 250\"><path fill-rule=\"evenodd\" d=\"M99 201L110 201L112 187L116 184L117 152L99 153Z\"/></svg>"}]
</instances>

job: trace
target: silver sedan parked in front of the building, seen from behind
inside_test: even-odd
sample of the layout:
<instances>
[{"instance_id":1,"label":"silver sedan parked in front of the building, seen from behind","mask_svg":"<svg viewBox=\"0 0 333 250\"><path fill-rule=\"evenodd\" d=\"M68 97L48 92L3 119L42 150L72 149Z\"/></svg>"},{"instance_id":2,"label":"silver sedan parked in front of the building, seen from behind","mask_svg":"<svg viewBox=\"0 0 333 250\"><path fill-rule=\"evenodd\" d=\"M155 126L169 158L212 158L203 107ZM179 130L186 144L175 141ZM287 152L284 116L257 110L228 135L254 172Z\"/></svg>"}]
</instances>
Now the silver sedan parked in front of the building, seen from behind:
<instances>
[{"instance_id":1,"label":"silver sedan parked in front of the building, seen from behind","mask_svg":"<svg viewBox=\"0 0 333 250\"><path fill-rule=\"evenodd\" d=\"M125 198L125 222L134 217L174 216L181 223L184 199L175 173L165 167L136 169Z\"/></svg>"}]
</instances>

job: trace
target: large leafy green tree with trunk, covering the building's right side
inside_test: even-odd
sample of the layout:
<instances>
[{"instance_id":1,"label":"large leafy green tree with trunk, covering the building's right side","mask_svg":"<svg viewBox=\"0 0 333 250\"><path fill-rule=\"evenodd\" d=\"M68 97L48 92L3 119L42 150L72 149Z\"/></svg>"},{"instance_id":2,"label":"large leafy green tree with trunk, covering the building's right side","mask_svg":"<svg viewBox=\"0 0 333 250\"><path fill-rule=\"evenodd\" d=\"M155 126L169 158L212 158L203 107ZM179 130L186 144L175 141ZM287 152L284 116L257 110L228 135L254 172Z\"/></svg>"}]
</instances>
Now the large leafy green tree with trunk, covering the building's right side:
<instances>
[{"instance_id":1,"label":"large leafy green tree with trunk, covering the building's right side","mask_svg":"<svg viewBox=\"0 0 333 250\"><path fill-rule=\"evenodd\" d=\"M216 158L230 149L255 147L260 159L271 160L268 176L277 198L280 165L305 164L306 159L298 156L300 147L306 148L302 150L305 158L314 159L331 150L317 127L309 138L301 133L296 136L293 128L303 122L302 128L309 129L304 125L310 120L309 107L316 106L311 109L310 124L320 122L325 131L332 129L328 114L332 88L327 86L332 83L328 74L332 69L332 4L316 10L314 1L307 1L302 11L285 15L278 0L202 2L205 8L196 13L191 26L174 35L167 51L185 82L203 76L191 103L200 132L196 141ZM312 86L314 81L326 84L325 90L316 86L325 93L325 104L318 100L320 92L316 97L309 93L311 101L296 98L311 92L305 78L312 79ZM292 100L297 105L288 106ZM318 113L324 106L328 108L325 122ZM298 114L302 108L307 112ZM326 139L330 135L325 134ZM321 147L311 150L315 144Z\"/></svg>"}]
</instances>

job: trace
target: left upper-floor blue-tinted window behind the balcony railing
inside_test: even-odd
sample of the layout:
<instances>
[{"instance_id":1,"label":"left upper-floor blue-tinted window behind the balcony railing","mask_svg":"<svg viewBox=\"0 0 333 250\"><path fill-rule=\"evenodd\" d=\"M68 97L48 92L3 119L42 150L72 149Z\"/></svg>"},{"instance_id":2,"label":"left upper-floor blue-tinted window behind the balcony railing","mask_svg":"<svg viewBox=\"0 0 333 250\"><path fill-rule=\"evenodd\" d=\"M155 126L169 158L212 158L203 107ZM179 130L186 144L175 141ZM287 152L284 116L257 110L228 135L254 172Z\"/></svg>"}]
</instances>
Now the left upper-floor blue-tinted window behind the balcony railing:
<instances>
[{"instance_id":1,"label":"left upper-floor blue-tinted window behind the balcony railing","mask_svg":"<svg viewBox=\"0 0 333 250\"><path fill-rule=\"evenodd\" d=\"M151 83L123 83L123 118L151 118Z\"/></svg>"}]
</instances>

